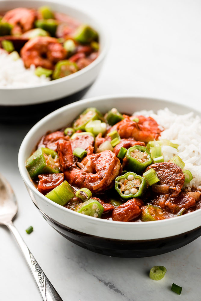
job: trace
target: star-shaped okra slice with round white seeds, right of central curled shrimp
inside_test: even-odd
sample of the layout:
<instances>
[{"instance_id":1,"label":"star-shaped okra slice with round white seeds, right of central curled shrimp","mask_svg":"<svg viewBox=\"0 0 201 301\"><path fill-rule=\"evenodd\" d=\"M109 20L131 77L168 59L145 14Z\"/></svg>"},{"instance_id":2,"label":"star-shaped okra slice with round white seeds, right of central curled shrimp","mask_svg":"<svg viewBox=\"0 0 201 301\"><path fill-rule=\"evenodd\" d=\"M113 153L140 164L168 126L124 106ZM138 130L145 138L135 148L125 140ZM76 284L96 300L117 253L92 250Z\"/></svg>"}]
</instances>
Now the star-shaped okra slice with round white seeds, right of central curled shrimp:
<instances>
[{"instance_id":1,"label":"star-shaped okra slice with round white seeds, right of central curled shrimp","mask_svg":"<svg viewBox=\"0 0 201 301\"><path fill-rule=\"evenodd\" d=\"M142 197L147 189L146 180L134 172L127 172L115 179L115 189L124 200Z\"/></svg>"}]
</instances>

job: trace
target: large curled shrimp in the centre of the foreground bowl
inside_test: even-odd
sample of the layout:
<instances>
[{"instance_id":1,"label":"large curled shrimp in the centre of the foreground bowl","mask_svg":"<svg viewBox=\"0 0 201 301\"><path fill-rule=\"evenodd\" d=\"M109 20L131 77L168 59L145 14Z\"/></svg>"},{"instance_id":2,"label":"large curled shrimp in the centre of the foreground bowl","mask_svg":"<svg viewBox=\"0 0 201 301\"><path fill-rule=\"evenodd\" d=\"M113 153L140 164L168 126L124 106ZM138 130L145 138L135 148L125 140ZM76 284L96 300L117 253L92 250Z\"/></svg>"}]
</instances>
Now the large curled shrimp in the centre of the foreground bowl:
<instances>
[{"instance_id":1,"label":"large curled shrimp in the centre of the foreground bowl","mask_svg":"<svg viewBox=\"0 0 201 301\"><path fill-rule=\"evenodd\" d=\"M64 177L69 184L86 187L92 192L111 188L114 179L122 171L119 159L109 150L86 156L79 166L82 169L68 168L64 171Z\"/></svg>"}]
</instances>

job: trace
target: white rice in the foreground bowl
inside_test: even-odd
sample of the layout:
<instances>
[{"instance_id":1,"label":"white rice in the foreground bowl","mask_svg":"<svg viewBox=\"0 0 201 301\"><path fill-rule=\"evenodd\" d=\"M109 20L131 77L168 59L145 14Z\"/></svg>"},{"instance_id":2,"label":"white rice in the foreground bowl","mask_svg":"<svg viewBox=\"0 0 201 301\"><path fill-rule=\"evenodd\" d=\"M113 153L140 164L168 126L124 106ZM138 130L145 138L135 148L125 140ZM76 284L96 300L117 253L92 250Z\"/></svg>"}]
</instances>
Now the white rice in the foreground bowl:
<instances>
[{"instance_id":1,"label":"white rice in the foreground bowl","mask_svg":"<svg viewBox=\"0 0 201 301\"><path fill-rule=\"evenodd\" d=\"M142 110L133 115L151 116L164 128L159 140L167 139L179 144L178 151L174 147L163 146L164 161L178 155L185 163L184 170L190 170L193 179L185 184L190 191L192 187L201 189L201 119L193 112L184 115L172 113L168 108L158 110Z\"/></svg>"}]
</instances>

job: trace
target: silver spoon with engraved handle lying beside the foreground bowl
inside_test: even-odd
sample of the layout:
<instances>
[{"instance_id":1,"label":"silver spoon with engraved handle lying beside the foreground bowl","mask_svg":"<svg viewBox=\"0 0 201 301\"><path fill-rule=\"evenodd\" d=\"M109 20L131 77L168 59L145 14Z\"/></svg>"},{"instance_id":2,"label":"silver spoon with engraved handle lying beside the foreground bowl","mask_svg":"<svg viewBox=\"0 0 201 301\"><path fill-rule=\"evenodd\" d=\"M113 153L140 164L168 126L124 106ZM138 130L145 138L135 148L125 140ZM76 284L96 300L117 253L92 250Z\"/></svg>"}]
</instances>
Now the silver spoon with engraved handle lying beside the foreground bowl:
<instances>
[{"instance_id":1,"label":"silver spoon with engraved handle lying beside the foreground bowl","mask_svg":"<svg viewBox=\"0 0 201 301\"><path fill-rule=\"evenodd\" d=\"M12 220L17 214L17 200L8 181L0 174L0 225L6 225L11 230L17 243L22 250L24 258L32 272L33 278L44 301L62 301L61 297L54 289L42 268L39 266L32 253L29 251Z\"/></svg>"}]
</instances>

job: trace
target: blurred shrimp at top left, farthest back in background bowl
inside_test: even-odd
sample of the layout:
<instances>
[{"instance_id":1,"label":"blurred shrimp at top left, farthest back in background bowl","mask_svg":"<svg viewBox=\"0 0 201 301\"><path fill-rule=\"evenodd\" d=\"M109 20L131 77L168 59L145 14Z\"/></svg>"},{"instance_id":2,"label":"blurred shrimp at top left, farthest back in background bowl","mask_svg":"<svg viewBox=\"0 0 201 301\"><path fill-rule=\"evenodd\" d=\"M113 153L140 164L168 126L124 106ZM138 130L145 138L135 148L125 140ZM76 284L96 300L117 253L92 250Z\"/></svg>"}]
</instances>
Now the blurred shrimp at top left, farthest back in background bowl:
<instances>
[{"instance_id":1,"label":"blurred shrimp at top left, farthest back in background bowl","mask_svg":"<svg viewBox=\"0 0 201 301\"><path fill-rule=\"evenodd\" d=\"M28 8L14 8L2 18L3 22L8 22L14 25L12 34L25 33L34 27L34 21L36 20L36 11Z\"/></svg>"}]
</instances>

